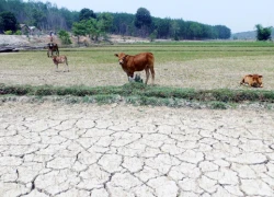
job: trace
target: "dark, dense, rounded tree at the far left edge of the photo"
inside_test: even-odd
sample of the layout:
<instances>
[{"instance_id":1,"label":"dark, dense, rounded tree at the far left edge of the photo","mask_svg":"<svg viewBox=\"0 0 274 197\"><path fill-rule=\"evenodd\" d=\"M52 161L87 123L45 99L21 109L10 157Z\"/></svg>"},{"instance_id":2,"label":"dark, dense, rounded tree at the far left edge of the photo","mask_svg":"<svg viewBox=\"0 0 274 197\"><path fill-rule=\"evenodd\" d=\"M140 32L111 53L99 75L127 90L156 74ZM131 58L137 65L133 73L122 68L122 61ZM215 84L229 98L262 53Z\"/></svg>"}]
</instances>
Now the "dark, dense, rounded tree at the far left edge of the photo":
<instances>
[{"instance_id":1,"label":"dark, dense, rounded tree at the far left edge of the photo","mask_svg":"<svg viewBox=\"0 0 274 197\"><path fill-rule=\"evenodd\" d=\"M16 32L19 30L18 20L12 12L0 13L0 30Z\"/></svg>"}]
</instances>

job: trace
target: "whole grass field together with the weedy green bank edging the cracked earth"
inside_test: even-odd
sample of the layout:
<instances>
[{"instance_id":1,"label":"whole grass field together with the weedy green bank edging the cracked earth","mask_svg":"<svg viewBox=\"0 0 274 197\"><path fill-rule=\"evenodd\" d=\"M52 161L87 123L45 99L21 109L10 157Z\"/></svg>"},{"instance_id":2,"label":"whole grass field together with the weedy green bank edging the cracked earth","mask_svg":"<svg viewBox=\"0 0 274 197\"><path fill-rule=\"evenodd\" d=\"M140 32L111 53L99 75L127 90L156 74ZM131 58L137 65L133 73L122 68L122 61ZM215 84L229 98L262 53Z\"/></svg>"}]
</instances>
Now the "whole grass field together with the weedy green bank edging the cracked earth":
<instances>
[{"instance_id":1,"label":"whole grass field together with the weedy green bank edging the cracked earth","mask_svg":"<svg viewBox=\"0 0 274 197\"><path fill-rule=\"evenodd\" d=\"M130 85L114 54L155 54L156 85ZM126 102L185 106L209 103L212 108L242 102L274 102L274 44L259 42L180 42L60 48L70 72L56 72L46 50L0 54L0 94L56 95L68 103ZM240 85L244 74L263 76L264 88ZM140 72L145 79L145 72ZM151 79L148 82L151 83ZM5 97L2 97L4 101ZM186 101L186 104L185 104ZM271 107L270 107L271 106Z\"/></svg>"}]
</instances>

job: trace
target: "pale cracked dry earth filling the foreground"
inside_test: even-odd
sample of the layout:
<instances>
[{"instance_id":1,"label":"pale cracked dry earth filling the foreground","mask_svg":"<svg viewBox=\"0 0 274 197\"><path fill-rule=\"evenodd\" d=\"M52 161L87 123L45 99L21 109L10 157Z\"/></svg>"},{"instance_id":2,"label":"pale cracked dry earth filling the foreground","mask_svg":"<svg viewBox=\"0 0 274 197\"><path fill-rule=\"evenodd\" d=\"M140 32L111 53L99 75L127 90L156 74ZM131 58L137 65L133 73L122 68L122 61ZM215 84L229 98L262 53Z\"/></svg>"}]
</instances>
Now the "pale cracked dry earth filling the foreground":
<instances>
[{"instance_id":1,"label":"pale cracked dry earth filling the foreground","mask_svg":"<svg viewBox=\"0 0 274 197\"><path fill-rule=\"evenodd\" d=\"M1 197L274 196L274 112L0 104Z\"/></svg>"}]
</instances>

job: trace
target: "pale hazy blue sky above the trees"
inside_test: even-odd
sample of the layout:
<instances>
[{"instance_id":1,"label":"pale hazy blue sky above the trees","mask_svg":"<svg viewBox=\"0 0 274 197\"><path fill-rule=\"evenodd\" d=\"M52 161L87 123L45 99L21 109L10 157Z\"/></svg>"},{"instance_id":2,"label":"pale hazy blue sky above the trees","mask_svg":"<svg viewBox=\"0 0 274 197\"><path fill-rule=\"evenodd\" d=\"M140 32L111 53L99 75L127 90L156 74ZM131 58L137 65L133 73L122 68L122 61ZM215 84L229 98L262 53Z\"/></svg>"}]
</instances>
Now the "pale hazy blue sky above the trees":
<instances>
[{"instance_id":1,"label":"pale hazy blue sky above the trees","mask_svg":"<svg viewBox=\"0 0 274 197\"><path fill-rule=\"evenodd\" d=\"M37 0L58 8L135 14L146 8L151 16L226 25L232 33L254 31L255 24L274 26L274 0Z\"/></svg>"}]
</instances>

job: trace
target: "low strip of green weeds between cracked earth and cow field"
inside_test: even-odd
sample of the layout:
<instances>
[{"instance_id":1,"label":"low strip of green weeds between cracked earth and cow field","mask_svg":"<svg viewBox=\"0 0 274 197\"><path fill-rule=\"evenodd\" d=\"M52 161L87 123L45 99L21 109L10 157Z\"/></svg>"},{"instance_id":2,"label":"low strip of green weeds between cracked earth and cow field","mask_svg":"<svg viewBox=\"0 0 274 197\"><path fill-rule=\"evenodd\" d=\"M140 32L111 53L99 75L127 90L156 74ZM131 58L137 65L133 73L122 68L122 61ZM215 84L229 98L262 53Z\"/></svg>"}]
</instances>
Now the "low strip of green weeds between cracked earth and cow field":
<instances>
[{"instance_id":1,"label":"low strip of green weeds between cracked earth and cow field","mask_svg":"<svg viewBox=\"0 0 274 197\"><path fill-rule=\"evenodd\" d=\"M182 100L207 102L212 108L226 108L229 103L264 102L274 103L274 91L261 90L194 90L167 86L151 86L142 83L127 83L122 86L31 86L0 85L2 95L28 96L75 96L77 101L99 104L118 103L155 106L180 106ZM80 99L81 97L81 99Z\"/></svg>"}]
</instances>

